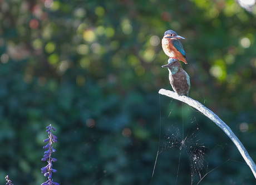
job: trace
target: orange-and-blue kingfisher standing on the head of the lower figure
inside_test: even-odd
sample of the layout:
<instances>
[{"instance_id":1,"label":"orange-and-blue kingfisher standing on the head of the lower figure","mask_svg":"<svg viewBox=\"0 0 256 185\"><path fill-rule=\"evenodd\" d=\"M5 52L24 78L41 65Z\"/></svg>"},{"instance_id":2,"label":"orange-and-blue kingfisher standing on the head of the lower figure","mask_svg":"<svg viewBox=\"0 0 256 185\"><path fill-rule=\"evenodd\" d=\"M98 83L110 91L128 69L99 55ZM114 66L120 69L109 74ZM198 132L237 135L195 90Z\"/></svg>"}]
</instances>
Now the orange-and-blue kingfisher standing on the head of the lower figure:
<instances>
[{"instance_id":1,"label":"orange-and-blue kingfisher standing on the head of the lower figure","mask_svg":"<svg viewBox=\"0 0 256 185\"><path fill-rule=\"evenodd\" d=\"M170 58L176 58L183 61L185 64L188 64L186 62L186 53L183 49L183 45L178 39L185 38L181 37L173 30L167 30L162 39L162 48L164 53Z\"/></svg>"}]
</instances>

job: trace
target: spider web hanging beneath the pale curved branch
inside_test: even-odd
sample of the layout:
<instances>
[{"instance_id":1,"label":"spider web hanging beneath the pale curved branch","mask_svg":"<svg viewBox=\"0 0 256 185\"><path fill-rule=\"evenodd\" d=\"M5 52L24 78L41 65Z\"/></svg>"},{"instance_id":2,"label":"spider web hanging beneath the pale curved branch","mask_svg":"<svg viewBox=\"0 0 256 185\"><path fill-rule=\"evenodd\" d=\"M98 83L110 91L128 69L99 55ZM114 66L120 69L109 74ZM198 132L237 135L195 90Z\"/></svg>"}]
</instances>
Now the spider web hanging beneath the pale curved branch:
<instances>
[{"instance_id":1,"label":"spider web hanging beneath the pale curved branch","mask_svg":"<svg viewBox=\"0 0 256 185\"><path fill-rule=\"evenodd\" d=\"M157 157L164 155L166 151L171 151L170 155L178 161L176 167L171 167L176 168L176 182L171 184L189 184L189 179L191 185L199 184L210 172L220 166L220 163L210 168L208 165L208 153L220 145L212 141L201 128L195 116L196 111L185 104L180 106L181 104L176 105L175 103L170 102L171 110L168 117L160 116L162 128ZM180 107L183 112L182 117L179 117L180 112L176 114L177 110L173 110L174 107L176 109L176 106ZM214 146L214 148L208 147L209 141L211 142L210 146ZM170 155L169 157L171 157ZM175 162L173 163L175 165Z\"/></svg>"}]
</instances>

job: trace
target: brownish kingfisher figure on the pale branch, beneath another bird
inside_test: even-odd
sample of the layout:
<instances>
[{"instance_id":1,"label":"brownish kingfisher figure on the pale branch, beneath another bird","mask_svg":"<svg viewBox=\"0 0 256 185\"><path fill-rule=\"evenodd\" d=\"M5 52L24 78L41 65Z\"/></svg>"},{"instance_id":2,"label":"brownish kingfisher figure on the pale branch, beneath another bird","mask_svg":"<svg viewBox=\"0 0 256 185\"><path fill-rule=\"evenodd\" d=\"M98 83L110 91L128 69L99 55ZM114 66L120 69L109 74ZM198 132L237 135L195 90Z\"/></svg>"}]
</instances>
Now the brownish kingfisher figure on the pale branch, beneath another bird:
<instances>
[{"instance_id":1,"label":"brownish kingfisher figure on the pale branch, beneath another bird","mask_svg":"<svg viewBox=\"0 0 256 185\"><path fill-rule=\"evenodd\" d=\"M171 87L179 96L188 96L190 89L189 75L181 68L179 61L175 58L169 58L168 64L162 68L168 68Z\"/></svg>"}]
</instances>

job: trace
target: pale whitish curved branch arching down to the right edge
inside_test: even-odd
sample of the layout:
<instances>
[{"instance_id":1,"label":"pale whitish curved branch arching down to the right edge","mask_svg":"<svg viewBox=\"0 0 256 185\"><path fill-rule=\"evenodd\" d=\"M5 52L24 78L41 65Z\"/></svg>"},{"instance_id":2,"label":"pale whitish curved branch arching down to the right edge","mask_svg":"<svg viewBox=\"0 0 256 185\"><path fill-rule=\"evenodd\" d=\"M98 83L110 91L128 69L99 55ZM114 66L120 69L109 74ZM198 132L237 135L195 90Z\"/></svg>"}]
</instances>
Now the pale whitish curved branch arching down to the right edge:
<instances>
[{"instance_id":1,"label":"pale whitish curved branch arching down to the right edge","mask_svg":"<svg viewBox=\"0 0 256 185\"><path fill-rule=\"evenodd\" d=\"M243 156L245 162L250 167L250 169L253 172L254 177L256 178L256 165L253 162L252 158L249 156L247 150L245 150L243 144L239 141L238 137L235 136L234 132L230 129L230 127L223 122L219 116L213 113L213 111L206 108L204 105L200 104L200 102L191 99L188 96L179 96L177 93L174 93L173 91L160 89L159 94L172 97L173 99L182 101L195 109L199 110L202 114L204 114L206 117L208 117L211 121L213 121L216 125L220 127L228 136L229 138L234 142L235 146L237 146L239 152Z\"/></svg>"}]
</instances>

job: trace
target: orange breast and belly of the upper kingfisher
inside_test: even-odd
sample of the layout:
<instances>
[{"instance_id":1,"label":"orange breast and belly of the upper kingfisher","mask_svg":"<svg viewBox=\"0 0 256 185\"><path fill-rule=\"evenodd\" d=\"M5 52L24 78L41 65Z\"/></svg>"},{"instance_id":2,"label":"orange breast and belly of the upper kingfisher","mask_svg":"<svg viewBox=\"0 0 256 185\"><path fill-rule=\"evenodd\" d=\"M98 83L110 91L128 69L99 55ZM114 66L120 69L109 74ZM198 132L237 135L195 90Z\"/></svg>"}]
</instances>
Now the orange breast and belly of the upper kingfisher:
<instances>
[{"instance_id":1,"label":"orange breast and belly of the upper kingfisher","mask_svg":"<svg viewBox=\"0 0 256 185\"><path fill-rule=\"evenodd\" d=\"M188 64L184 56L174 47L173 43L171 43L170 38L162 39L162 48L164 53L170 58L177 58L178 60L183 61L185 64Z\"/></svg>"}]
</instances>

